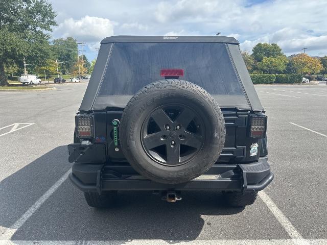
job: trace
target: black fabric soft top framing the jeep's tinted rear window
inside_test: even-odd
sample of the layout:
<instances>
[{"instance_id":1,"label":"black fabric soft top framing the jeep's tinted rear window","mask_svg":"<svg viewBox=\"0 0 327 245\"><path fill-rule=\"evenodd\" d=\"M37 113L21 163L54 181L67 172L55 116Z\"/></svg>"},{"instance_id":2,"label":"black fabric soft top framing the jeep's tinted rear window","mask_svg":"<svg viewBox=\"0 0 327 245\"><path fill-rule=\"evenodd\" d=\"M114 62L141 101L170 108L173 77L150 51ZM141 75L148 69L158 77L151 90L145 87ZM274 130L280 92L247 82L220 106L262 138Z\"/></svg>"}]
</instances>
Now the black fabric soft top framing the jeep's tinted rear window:
<instances>
[{"instance_id":1,"label":"black fabric soft top framing the jeep's tinted rear window","mask_svg":"<svg viewBox=\"0 0 327 245\"><path fill-rule=\"evenodd\" d=\"M232 37L224 36L112 36L101 41L97 62L92 72L91 79L79 111L103 110L106 108L124 108L133 94L103 93L106 85L112 81L106 79L110 74L110 63L114 62L111 54L113 47L120 43L220 43L227 51L228 62L231 62L232 74L241 83L242 94L238 95L213 95L218 105L222 108L237 108L239 110L263 111L259 97L256 94L248 70L243 61L239 42ZM125 45L125 44L124 44ZM136 45L136 44L135 44ZM134 45L133 45L134 46ZM124 58L126 60L126 58ZM122 61L124 61L124 59ZM109 62L110 61L110 62ZM221 61L220 61L221 62ZM222 61L223 62L223 61ZM112 63L111 63L112 65ZM135 64L136 65L136 64ZM230 67L230 66L229 66ZM159 80L159 79L157 79ZM187 80L187 79L185 79ZM155 81L153 81L155 82ZM192 82L192 81L191 81ZM141 89L143 86L139 87ZM101 89L102 88L102 89Z\"/></svg>"}]
</instances>

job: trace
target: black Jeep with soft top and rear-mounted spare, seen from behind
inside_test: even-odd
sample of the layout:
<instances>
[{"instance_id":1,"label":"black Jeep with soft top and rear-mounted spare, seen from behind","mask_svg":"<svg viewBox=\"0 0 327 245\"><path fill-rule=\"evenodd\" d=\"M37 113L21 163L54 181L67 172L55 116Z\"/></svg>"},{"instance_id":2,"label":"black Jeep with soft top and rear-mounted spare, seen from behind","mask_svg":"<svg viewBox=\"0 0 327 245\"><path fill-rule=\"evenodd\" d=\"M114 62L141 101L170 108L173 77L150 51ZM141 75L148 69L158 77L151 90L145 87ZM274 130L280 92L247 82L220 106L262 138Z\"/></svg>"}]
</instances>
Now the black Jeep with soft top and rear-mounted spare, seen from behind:
<instances>
[{"instance_id":1,"label":"black Jeep with soft top and rear-mounted spare, seen from behind","mask_svg":"<svg viewBox=\"0 0 327 245\"><path fill-rule=\"evenodd\" d=\"M267 116L239 42L222 36L114 36L76 115L70 179L88 205L117 191L222 191L250 205L273 179Z\"/></svg>"}]
</instances>

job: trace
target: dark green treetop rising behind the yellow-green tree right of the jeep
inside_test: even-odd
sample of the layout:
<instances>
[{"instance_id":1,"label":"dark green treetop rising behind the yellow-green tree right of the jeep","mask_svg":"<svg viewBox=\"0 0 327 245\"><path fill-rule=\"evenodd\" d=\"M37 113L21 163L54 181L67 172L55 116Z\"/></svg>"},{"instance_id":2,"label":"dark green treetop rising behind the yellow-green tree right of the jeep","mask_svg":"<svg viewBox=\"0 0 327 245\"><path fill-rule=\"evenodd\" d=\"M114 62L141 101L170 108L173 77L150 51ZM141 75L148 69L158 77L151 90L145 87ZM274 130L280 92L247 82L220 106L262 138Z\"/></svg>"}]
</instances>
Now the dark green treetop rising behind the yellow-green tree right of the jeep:
<instances>
[{"instance_id":1,"label":"dark green treetop rising behind the yellow-green tree right of the jeep","mask_svg":"<svg viewBox=\"0 0 327 245\"><path fill-rule=\"evenodd\" d=\"M276 43L258 43L252 49L251 56L255 62L261 62L264 57L273 57L283 56L282 48L280 48Z\"/></svg>"}]
</instances>

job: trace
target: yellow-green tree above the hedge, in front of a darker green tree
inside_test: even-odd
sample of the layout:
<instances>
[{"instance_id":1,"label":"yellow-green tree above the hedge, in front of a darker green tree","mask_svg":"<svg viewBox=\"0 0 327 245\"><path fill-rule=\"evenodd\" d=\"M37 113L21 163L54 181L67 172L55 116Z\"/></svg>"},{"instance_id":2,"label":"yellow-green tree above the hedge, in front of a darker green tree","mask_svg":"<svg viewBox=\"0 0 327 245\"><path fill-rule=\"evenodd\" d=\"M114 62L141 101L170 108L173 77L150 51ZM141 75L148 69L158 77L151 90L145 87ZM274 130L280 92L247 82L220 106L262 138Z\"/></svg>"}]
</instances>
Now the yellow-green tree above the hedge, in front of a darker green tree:
<instances>
[{"instance_id":1,"label":"yellow-green tree above the hedge, in front of a darker green tree","mask_svg":"<svg viewBox=\"0 0 327 245\"><path fill-rule=\"evenodd\" d=\"M285 71L287 63L288 59L285 55L277 57L264 57L263 60L256 65L256 67L263 73L278 74Z\"/></svg>"}]
</instances>

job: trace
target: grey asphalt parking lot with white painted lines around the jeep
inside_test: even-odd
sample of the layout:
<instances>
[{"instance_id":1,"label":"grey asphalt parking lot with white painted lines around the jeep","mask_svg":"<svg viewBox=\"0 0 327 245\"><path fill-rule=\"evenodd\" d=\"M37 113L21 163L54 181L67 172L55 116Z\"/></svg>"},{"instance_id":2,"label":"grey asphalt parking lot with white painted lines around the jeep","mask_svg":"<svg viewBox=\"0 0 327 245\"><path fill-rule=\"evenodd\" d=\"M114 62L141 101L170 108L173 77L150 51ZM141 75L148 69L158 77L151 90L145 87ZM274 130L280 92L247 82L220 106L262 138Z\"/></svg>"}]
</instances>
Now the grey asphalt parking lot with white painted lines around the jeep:
<instances>
[{"instance_id":1,"label":"grey asphalt parking lot with white painted lines around the jeep","mask_svg":"<svg viewBox=\"0 0 327 245\"><path fill-rule=\"evenodd\" d=\"M327 244L326 84L255 86L275 179L245 209L206 191L177 203L121 192L112 209L87 206L66 149L86 86L0 92L0 243Z\"/></svg>"}]
</instances>

